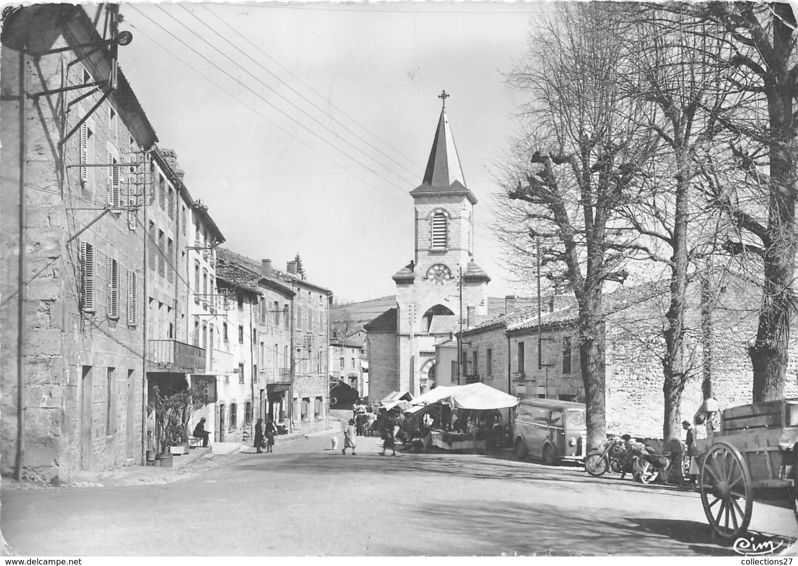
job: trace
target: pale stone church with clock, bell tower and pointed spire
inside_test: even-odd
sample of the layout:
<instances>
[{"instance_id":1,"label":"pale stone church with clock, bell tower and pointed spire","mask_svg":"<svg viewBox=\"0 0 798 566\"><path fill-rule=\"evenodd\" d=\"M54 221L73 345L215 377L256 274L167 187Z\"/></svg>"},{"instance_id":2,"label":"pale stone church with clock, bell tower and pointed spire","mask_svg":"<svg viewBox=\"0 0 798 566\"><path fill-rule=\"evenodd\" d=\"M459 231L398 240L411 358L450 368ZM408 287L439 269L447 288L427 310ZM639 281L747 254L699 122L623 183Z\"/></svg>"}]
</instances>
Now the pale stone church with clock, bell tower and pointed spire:
<instances>
[{"instance_id":1,"label":"pale stone church with clock, bell tower and pointed spire","mask_svg":"<svg viewBox=\"0 0 798 566\"><path fill-rule=\"evenodd\" d=\"M410 192L415 208L413 260L393 275L395 307L364 326L373 401L393 391L418 395L429 390L436 382L436 343L488 315L491 278L473 254L476 197L457 156L447 97L445 91L440 95L443 108L424 179Z\"/></svg>"}]
</instances>

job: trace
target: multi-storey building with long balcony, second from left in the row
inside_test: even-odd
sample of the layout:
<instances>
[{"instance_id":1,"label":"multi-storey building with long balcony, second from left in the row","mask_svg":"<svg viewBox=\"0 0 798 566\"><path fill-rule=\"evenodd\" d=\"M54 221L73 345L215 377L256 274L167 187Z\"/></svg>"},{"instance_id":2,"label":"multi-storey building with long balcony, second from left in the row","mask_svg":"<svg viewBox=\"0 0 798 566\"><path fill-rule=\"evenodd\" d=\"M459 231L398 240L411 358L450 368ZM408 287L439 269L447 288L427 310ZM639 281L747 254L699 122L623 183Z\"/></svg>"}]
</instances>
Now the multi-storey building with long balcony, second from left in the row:
<instances>
[{"instance_id":1,"label":"multi-storey building with long balcony, second from left in the row","mask_svg":"<svg viewBox=\"0 0 798 566\"><path fill-rule=\"evenodd\" d=\"M211 405L197 412L192 425L205 417L207 429L215 430L215 247L224 236L188 192L174 150L152 148L145 167L147 398L154 397L156 387L158 394L172 394L201 386ZM154 415L149 417L148 448L153 449Z\"/></svg>"}]
</instances>

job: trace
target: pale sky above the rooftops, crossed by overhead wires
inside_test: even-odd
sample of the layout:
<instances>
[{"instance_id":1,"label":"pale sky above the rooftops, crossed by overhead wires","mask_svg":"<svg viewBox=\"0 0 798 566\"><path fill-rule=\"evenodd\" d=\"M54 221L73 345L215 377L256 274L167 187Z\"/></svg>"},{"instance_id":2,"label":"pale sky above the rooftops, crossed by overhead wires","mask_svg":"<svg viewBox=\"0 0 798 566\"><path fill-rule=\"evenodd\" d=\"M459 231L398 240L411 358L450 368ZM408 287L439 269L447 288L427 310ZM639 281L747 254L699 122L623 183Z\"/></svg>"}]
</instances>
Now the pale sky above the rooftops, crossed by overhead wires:
<instances>
[{"instance_id":1,"label":"pale sky above the rooftops, crossed by overhead wires","mask_svg":"<svg viewBox=\"0 0 798 566\"><path fill-rule=\"evenodd\" d=\"M491 296L532 295L502 267L493 181L542 2L122 3L120 65L226 241L337 302L393 295L413 259L413 198L446 111ZM91 13L91 10L89 10Z\"/></svg>"}]
</instances>

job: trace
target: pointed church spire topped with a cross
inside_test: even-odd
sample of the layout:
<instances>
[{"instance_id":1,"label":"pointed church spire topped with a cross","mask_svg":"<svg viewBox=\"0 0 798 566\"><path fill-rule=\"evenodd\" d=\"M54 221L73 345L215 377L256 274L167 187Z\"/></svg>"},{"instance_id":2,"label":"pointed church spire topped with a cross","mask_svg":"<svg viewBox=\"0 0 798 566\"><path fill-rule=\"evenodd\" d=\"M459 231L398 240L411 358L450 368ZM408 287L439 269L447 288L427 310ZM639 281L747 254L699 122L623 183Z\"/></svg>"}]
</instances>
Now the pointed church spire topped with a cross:
<instances>
[{"instance_id":1,"label":"pointed church spire topped with a cross","mask_svg":"<svg viewBox=\"0 0 798 566\"><path fill-rule=\"evenodd\" d=\"M438 97L443 100L443 108L440 109L440 119L435 130L433 148L429 152L424 180L410 194L460 193L465 194L471 204L476 204L476 198L466 187L463 168L460 167L460 158L457 156L452 129L446 115L446 99L449 94L444 90Z\"/></svg>"}]
</instances>

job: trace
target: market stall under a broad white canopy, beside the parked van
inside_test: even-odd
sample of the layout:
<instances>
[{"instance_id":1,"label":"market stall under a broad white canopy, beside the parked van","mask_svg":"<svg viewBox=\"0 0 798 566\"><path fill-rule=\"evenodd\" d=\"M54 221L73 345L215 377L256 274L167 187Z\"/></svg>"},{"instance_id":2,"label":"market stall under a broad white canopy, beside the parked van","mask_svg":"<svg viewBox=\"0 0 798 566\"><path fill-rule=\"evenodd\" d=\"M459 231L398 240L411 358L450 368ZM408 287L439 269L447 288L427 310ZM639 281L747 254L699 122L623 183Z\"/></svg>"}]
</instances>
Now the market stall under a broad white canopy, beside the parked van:
<instances>
[{"instance_id":1,"label":"market stall under a broad white canopy, beside the parked van","mask_svg":"<svg viewBox=\"0 0 798 566\"><path fill-rule=\"evenodd\" d=\"M502 420L517 404L517 398L484 383L441 386L413 399L405 418L426 433L429 445L478 451L500 445Z\"/></svg>"}]
</instances>

